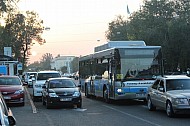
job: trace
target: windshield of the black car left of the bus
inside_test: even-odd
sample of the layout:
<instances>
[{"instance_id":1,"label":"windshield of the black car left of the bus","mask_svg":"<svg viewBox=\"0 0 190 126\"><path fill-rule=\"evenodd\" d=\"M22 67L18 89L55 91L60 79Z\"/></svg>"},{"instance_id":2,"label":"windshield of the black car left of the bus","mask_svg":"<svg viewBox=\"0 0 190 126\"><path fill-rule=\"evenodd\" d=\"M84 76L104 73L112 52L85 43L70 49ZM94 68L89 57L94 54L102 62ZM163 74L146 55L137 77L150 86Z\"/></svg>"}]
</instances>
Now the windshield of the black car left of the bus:
<instances>
[{"instance_id":1,"label":"windshield of the black car left of the bus","mask_svg":"<svg viewBox=\"0 0 190 126\"><path fill-rule=\"evenodd\" d=\"M68 80L68 79L58 79L58 80L51 80L49 82L49 87L50 88L74 88L75 83L72 80Z\"/></svg>"}]
</instances>

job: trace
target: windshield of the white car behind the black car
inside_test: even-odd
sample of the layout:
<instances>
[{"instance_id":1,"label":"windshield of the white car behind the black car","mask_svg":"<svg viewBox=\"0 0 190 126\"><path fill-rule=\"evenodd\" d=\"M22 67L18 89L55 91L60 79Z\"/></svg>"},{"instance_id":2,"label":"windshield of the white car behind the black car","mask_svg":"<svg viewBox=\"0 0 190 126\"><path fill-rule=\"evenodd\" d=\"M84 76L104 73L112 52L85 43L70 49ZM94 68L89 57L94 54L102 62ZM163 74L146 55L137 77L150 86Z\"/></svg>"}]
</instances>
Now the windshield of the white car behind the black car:
<instances>
[{"instance_id":1,"label":"windshield of the white car behind the black car","mask_svg":"<svg viewBox=\"0 0 190 126\"><path fill-rule=\"evenodd\" d=\"M48 78L61 77L59 73L38 73L37 80L47 80Z\"/></svg>"}]
</instances>

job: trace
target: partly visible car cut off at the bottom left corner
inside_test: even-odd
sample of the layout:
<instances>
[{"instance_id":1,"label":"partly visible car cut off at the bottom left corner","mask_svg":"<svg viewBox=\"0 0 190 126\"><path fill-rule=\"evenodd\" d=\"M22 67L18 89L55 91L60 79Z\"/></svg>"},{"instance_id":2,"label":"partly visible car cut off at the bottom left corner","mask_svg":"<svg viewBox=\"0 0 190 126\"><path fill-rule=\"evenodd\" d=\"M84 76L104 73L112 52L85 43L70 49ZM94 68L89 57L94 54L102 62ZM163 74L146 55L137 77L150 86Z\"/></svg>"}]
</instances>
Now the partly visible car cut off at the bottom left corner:
<instances>
[{"instance_id":1,"label":"partly visible car cut off at the bottom left corner","mask_svg":"<svg viewBox=\"0 0 190 126\"><path fill-rule=\"evenodd\" d=\"M0 93L0 125L1 126L16 125L16 119L13 116L11 109L7 107L1 93Z\"/></svg>"}]
</instances>

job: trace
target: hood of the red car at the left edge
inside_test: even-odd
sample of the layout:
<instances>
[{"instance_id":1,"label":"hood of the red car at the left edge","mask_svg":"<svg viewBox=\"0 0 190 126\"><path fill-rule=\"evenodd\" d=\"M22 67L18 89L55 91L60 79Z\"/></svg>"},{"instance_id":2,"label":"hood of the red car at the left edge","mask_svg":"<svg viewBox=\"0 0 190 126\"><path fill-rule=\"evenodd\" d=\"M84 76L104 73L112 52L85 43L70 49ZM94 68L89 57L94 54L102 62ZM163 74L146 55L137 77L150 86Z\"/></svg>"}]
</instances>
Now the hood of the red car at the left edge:
<instances>
[{"instance_id":1,"label":"hood of the red car at the left edge","mask_svg":"<svg viewBox=\"0 0 190 126\"><path fill-rule=\"evenodd\" d=\"M12 92L17 90L22 90L22 85L1 85L0 92Z\"/></svg>"}]
</instances>

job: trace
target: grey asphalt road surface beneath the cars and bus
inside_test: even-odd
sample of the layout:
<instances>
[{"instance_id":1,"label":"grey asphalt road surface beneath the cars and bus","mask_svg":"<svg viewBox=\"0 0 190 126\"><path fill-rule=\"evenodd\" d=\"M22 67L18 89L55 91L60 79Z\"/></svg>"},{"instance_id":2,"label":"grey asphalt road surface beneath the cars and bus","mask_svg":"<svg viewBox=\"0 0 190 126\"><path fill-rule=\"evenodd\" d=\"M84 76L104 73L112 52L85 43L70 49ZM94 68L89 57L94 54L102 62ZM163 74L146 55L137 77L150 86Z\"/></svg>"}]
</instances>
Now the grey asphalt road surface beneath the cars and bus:
<instances>
[{"instance_id":1,"label":"grey asphalt road surface beneath the cars and bus","mask_svg":"<svg viewBox=\"0 0 190 126\"><path fill-rule=\"evenodd\" d=\"M32 88L27 88L32 92ZM148 111L143 101L107 104L99 98L83 96L83 107L46 109L26 95L24 107L11 106L17 126L189 126L190 115L166 116L163 110Z\"/></svg>"}]
</instances>

